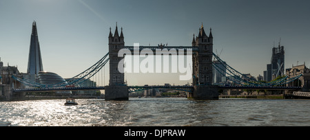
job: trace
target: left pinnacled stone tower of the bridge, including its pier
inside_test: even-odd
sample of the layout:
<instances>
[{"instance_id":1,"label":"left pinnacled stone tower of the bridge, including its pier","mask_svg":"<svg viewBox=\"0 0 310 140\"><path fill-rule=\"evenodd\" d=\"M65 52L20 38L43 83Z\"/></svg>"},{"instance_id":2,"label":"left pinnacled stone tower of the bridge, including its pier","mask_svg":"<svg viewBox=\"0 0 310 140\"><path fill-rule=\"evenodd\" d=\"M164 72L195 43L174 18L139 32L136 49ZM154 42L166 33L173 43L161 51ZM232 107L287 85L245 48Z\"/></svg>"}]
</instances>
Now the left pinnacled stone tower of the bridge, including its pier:
<instances>
[{"instance_id":1,"label":"left pinnacled stone tower of the bridge, including its pier","mask_svg":"<svg viewBox=\"0 0 310 140\"><path fill-rule=\"evenodd\" d=\"M114 36L111 32L109 34L109 57L110 57L110 81L109 86L105 86L105 100L128 100L128 86L125 85L124 73L118 71L118 62L122 57L118 57L118 51L125 46L123 28L121 28L121 35L118 35L118 27Z\"/></svg>"}]
</instances>

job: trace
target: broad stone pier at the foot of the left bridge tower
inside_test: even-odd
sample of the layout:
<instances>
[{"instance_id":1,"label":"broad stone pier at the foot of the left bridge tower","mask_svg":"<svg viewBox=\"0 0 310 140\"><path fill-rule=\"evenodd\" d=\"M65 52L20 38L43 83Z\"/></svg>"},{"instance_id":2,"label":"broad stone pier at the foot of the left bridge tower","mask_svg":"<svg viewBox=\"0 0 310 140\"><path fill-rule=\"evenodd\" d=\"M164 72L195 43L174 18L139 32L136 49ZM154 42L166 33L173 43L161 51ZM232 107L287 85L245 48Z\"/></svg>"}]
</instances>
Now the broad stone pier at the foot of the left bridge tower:
<instances>
[{"instance_id":1,"label":"broad stone pier at the foot of the left bridge tower","mask_svg":"<svg viewBox=\"0 0 310 140\"><path fill-rule=\"evenodd\" d=\"M105 86L105 100L127 101L129 100L128 86Z\"/></svg>"}]
</instances>

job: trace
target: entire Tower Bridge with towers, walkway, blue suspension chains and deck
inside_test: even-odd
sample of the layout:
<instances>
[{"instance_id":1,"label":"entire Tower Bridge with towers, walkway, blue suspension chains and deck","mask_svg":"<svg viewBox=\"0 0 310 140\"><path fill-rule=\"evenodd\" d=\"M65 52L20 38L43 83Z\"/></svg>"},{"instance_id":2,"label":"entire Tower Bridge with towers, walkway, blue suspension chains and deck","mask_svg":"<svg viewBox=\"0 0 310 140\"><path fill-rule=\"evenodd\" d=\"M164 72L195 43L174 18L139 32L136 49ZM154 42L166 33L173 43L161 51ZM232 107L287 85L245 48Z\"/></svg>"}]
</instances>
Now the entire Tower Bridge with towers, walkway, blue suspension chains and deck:
<instances>
[{"instance_id":1,"label":"entire Tower Bridge with towers, walkway, blue suspension chains and deck","mask_svg":"<svg viewBox=\"0 0 310 140\"><path fill-rule=\"evenodd\" d=\"M225 63L218 56L213 53L213 35L210 29L209 36L205 33L203 25L199 28L198 36L193 37L192 46L125 46L123 29L121 28L121 34L118 34L118 27L114 34L112 34L110 28L109 34L109 52L96 62L92 67L83 71L79 75L70 78L65 82L56 84L40 84L26 78L21 78L16 75L12 75L14 80L17 80L28 86L34 86L34 89L12 89L14 93L22 92L40 92L40 91L75 91L75 90L105 90L105 100L128 100L130 92L142 91L146 89L176 89L180 91L186 91L189 93L188 97L195 100L216 100L218 99L218 89L270 89L270 90L300 90L300 86L284 86L287 83L293 82L302 76L302 74L296 77L289 78L288 76L277 80L275 82L262 83L247 75L236 71L236 69L227 65L227 70L214 65L212 58L216 58L218 62ZM125 75L118 69L118 65L125 56L118 56L118 52L122 49L127 49L127 53L131 55L140 54L143 49L151 50L154 55L156 51L168 51L168 55L179 55L179 53L190 53L192 55L192 86L128 86L125 83ZM138 53L136 53L138 52ZM172 53L173 52L173 53ZM161 55L161 54L159 54ZM92 78L98 71L100 71L107 61L110 61L110 80L108 86L89 86L89 87L67 87L72 84L79 84ZM226 65L226 63L225 63ZM226 78L233 81L237 86L217 86L212 85L213 69L223 74Z\"/></svg>"}]
</instances>

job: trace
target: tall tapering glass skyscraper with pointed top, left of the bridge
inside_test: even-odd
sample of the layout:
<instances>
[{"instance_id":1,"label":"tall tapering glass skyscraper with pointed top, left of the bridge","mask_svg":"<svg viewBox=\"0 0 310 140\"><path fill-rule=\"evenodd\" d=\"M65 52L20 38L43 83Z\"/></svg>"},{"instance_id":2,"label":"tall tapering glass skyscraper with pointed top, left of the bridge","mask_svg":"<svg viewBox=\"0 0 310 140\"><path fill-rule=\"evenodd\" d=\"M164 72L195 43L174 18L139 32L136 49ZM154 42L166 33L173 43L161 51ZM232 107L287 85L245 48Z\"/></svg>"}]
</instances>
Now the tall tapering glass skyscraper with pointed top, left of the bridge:
<instances>
[{"instance_id":1,"label":"tall tapering glass skyscraper with pointed top, left of the bridge","mask_svg":"<svg viewBox=\"0 0 310 140\"><path fill-rule=\"evenodd\" d=\"M32 23L27 73L29 75L38 75L39 71L43 71L43 65L37 32L37 23L34 21Z\"/></svg>"}]
</instances>

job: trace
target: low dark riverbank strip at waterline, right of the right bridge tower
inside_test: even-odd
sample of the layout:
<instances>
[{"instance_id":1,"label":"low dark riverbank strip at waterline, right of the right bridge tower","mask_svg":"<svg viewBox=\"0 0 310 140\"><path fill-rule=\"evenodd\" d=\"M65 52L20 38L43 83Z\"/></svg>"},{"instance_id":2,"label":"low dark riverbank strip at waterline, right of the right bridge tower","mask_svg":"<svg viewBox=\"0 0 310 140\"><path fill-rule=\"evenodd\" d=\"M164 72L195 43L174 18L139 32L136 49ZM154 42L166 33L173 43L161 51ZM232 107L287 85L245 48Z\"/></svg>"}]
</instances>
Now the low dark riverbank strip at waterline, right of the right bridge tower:
<instances>
[{"instance_id":1,"label":"low dark riverbank strip at waterline, right of the right bridge tower","mask_svg":"<svg viewBox=\"0 0 310 140\"><path fill-rule=\"evenodd\" d=\"M220 95L219 98L247 98L247 99L285 99L283 95Z\"/></svg>"}]
</instances>

